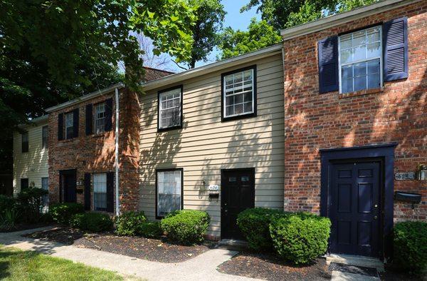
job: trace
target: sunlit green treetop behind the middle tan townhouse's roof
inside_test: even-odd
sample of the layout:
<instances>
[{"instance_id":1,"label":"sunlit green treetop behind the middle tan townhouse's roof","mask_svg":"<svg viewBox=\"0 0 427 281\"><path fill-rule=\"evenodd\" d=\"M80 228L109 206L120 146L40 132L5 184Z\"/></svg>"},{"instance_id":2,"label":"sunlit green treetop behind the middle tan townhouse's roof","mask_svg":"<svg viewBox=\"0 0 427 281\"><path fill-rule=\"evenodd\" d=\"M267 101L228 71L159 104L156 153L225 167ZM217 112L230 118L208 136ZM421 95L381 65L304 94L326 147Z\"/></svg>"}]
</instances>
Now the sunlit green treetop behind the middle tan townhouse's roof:
<instances>
[{"instance_id":1,"label":"sunlit green treetop behind the middle tan townhouse's roof","mask_svg":"<svg viewBox=\"0 0 427 281\"><path fill-rule=\"evenodd\" d=\"M248 26L248 31L234 31L228 27L221 34L221 42L218 48L221 50L221 56L218 58L230 58L243 53L256 51L260 48L277 44L282 40L278 31L273 29L267 21L256 21L251 19L251 24Z\"/></svg>"}]
</instances>

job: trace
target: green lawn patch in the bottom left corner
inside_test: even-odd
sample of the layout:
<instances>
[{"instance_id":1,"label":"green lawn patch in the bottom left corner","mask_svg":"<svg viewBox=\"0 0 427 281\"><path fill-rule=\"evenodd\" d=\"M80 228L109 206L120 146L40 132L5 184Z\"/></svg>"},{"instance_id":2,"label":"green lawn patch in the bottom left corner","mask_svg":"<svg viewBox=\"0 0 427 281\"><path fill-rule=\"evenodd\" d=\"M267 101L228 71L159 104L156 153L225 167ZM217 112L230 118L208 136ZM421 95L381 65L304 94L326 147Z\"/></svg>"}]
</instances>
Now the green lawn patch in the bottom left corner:
<instances>
[{"instance_id":1,"label":"green lawn patch in the bottom left corner","mask_svg":"<svg viewBox=\"0 0 427 281\"><path fill-rule=\"evenodd\" d=\"M0 280L123 280L115 272L0 245Z\"/></svg>"}]
</instances>

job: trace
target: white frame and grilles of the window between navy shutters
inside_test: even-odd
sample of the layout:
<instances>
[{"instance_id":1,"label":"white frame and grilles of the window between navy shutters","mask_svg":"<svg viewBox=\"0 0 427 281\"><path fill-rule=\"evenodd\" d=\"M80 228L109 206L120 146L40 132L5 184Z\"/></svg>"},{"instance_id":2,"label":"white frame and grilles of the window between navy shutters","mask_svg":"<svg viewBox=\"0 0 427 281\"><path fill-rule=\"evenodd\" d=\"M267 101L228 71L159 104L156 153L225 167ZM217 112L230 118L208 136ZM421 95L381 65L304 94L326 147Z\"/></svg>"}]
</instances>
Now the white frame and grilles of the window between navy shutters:
<instances>
[{"instance_id":1,"label":"white frame and grilles of the window between navy shutters","mask_svg":"<svg viewBox=\"0 0 427 281\"><path fill-rule=\"evenodd\" d=\"M364 58L364 59L359 59L357 61L352 61L349 63L341 63L341 36L344 35L348 35L348 34L352 34L352 40L353 40L353 34L359 31L367 31L367 29L373 29L379 27L379 50L380 50L380 55L379 56L373 56L370 58ZM366 34L365 34L365 38L366 38ZM339 69L338 69L338 75L339 75L339 93L342 93L342 66L348 66L351 64L355 64L355 63L362 63L362 62L367 62L367 61L374 61L375 59L379 59L379 85L380 87L382 87L384 84L383 82L383 57L384 57L384 52L383 52L383 42L382 42L382 26L370 26L367 27L366 29L360 29L357 31L353 31L351 33L347 33L347 34L342 34L340 36L338 36L338 65L339 65ZM354 48L355 46L352 46L352 48ZM354 54L353 54L354 55ZM368 76L367 76L368 77ZM354 79L353 79L353 89L354 89ZM362 91L366 91L369 90L369 88L362 90ZM353 92L345 92L346 93L353 93Z\"/></svg>"}]
</instances>

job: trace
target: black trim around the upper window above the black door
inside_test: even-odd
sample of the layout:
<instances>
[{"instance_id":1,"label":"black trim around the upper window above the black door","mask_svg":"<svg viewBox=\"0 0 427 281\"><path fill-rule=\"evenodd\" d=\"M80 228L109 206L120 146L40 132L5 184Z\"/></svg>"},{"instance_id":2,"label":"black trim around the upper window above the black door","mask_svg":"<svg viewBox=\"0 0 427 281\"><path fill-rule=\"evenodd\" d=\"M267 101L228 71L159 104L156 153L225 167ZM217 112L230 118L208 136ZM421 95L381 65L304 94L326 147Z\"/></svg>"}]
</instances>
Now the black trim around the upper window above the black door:
<instances>
[{"instance_id":1,"label":"black trim around the upper window above the black door","mask_svg":"<svg viewBox=\"0 0 427 281\"><path fill-rule=\"evenodd\" d=\"M247 71L247 70L253 70L253 112L252 113L243 113L239 116L231 116L231 117L226 117L224 116L224 77L234 74L234 73L238 73L238 72L242 72L242 71ZM238 68L236 70L233 71L228 71L225 73L221 73L221 122L226 122L226 121L232 121L232 120L238 120L238 119L243 119L243 118L251 118L251 117L256 117L257 116L257 79L258 79L258 73L256 71L256 64L252 65L252 66L246 66L244 68Z\"/></svg>"}]
</instances>

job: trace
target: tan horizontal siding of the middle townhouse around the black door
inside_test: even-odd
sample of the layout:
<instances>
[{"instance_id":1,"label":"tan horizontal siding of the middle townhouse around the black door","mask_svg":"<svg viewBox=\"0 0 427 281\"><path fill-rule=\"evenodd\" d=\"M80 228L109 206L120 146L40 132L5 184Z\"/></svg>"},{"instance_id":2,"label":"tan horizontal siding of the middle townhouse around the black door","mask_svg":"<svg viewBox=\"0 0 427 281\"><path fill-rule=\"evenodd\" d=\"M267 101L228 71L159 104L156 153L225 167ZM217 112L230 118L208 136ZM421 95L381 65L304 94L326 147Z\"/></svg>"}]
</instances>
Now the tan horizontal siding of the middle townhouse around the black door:
<instances>
[{"instance_id":1,"label":"tan horizontal siding of the middle townhouse around the black door","mask_svg":"<svg viewBox=\"0 0 427 281\"><path fill-rule=\"evenodd\" d=\"M257 116L221 122L221 73L256 64ZM142 96L140 208L154 219L155 169L184 168L184 208L211 215L209 234L221 233L221 169L255 168L255 206L283 208L284 115L281 55L182 82L183 128L157 132L157 91ZM164 88L177 86L169 85ZM202 186L201 181L206 185ZM221 186L220 186L221 188Z\"/></svg>"}]
</instances>

